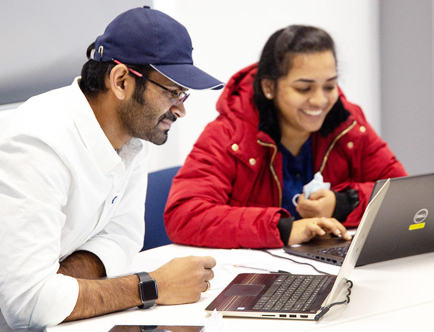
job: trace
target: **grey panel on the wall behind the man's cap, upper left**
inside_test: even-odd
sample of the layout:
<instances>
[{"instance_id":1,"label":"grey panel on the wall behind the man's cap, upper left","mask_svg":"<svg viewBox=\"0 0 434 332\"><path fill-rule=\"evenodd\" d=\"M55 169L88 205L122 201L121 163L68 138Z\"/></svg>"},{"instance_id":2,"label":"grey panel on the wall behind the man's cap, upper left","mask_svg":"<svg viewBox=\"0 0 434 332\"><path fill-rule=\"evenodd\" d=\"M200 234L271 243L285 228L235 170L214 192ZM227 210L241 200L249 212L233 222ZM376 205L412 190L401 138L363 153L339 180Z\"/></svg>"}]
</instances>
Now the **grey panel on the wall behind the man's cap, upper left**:
<instances>
[{"instance_id":1,"label":"grey panel on the wall behind the man's cap, upper left","mask_svg":"<svg viewBox=\"0 0 434 332\"><path fill-rule=\"evenodd\" d=\"M0 0L0 105L70 84L86 49L125 10L152 0Z\"/></svg>"}]
</instances>

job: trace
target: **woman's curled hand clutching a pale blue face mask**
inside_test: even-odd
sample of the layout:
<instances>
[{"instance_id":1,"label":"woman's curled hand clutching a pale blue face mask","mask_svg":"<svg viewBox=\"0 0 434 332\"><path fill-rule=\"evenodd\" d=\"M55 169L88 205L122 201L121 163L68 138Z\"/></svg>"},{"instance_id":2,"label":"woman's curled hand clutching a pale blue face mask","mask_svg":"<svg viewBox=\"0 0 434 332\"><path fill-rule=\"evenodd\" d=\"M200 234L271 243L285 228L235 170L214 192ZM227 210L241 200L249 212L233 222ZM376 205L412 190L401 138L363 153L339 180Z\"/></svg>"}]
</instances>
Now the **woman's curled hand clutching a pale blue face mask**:
<instances>
[{"instance_id":1,"label":"woman's curled hand clutching a pale blue face mask","mask_svg":"<svg viewBox=\"0 0 434 332\"><path fill-rule=\"evenodd\" d=\"M296 210L302 218L330 218L336 206L336 196L331 190L319 189L311 193L308 199L301 194L297 203Z\"/></svg>"}]
</instances>

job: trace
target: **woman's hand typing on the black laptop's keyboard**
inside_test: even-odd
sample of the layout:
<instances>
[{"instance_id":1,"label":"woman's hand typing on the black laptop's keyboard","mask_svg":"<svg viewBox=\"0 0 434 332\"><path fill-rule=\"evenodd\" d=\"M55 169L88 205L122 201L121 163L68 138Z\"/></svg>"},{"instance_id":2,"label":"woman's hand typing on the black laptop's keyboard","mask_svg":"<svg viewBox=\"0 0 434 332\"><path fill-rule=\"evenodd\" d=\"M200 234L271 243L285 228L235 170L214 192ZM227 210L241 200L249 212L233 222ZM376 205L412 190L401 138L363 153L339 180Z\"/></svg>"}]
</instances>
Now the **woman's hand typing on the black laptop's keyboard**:
<instances>
[{"instance_id":1,"label":"woman's hand typing on the black laptop's keyboard","mask_svg":"<svg viewBox=\"0 0 434 332\"><path fill-rule=\"evenodd\" d=\"M300 219L293 222L288 246L309 241L316 235L333 233L342 235L345 240L351 240L351 235L347 229L334 218L309 218Z\"/></svg>"}]
</instances>

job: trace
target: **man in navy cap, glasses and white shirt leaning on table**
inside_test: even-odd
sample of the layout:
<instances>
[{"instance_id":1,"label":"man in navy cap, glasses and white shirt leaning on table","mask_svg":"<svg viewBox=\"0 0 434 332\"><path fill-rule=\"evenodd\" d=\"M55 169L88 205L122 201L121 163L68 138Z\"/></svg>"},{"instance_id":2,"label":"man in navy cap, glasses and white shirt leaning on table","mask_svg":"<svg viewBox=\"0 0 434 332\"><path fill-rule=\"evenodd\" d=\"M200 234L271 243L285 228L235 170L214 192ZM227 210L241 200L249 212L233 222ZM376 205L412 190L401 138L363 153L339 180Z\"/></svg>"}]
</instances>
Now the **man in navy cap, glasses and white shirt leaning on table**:
<instances>
[{"instance_id":1,"label":"man in navy cap, glasses and white shirt leaning on table","mask_svg":"<svg viewBox=\"0 0 434 332\"><path fill-rule=\"evenodd\" d=\"M209 256L116 277L143 244L149 142L166 141L188 89L224 85L191 52L179 22L129 10L89 46L81 77L2 122L0 309L12 327L194 302L209 289Z\"/></svg>"}]
</instances>

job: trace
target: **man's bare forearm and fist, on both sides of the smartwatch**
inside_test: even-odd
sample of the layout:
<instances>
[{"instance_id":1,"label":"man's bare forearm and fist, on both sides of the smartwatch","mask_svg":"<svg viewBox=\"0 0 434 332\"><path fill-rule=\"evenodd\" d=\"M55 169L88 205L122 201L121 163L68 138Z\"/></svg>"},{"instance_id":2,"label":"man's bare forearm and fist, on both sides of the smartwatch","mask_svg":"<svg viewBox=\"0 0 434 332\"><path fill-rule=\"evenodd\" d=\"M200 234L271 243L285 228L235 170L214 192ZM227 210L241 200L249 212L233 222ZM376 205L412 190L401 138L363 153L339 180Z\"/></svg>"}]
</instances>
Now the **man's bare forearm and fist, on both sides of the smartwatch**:
<instances>
[{"instance_id":1,"label":"man's bare forearm and fist, on both sides of the smartwatch","mask_svg":"<svg viewBox=\"0 0 434 332\"><path fill-rule=\"evenodd\" d=\"M150 276L158 284L158 304L195 302L207 289L206 281L214 276L210 256L175 258L159 267ZM60 269L59 269L60 270ZM71 321L116 312L142 305L139 277L136 274L111 279L77 278L79 295L73 312L65 319Z\"/></svg>"}]
</instances>

